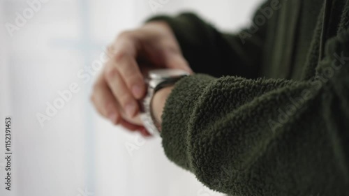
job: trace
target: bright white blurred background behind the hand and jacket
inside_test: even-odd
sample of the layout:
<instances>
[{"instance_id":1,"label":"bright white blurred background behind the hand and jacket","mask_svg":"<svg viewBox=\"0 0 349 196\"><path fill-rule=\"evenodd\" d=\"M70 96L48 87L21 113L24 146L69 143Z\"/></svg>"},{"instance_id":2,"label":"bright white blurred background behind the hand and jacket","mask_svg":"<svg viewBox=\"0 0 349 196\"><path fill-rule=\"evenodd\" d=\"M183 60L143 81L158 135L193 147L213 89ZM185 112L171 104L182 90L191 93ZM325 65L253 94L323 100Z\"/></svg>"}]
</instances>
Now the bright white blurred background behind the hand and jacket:
<instances>
[{"instance_id":1,"label":"bright white blurred background behind the hand and jacket","mask_svg":"<svg viewBox=\"0 0 349 196\"><path fill-rule=\"evenodd\" d=\"M0 131L0 195L220 195L171 163L160 138L144 140L98 116L91 84L105 47L151 15L191 10L234 32L260 1L0 0L1 127L13 117L11 191Z\"/></svg>"}]
</instances>

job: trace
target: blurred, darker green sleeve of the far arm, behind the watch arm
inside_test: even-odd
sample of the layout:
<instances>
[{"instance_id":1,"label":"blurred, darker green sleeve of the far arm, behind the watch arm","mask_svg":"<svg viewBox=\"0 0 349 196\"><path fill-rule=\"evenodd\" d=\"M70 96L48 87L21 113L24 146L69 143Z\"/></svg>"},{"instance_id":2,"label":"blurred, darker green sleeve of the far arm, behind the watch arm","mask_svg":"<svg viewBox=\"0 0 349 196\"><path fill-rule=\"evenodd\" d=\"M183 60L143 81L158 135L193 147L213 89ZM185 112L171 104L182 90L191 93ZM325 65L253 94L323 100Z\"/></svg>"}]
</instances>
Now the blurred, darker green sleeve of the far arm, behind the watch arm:
<instances>
[{"instance_id":1,"label":"blurred, darker green sleeve of the far arm, behind the watch arm","mask_svg":"<svg viewBox=\"0 0 349 196\"><path fill-rule=\"evenodd\" d=\"M267 5L269 3L262 6ZM260 11L255 13L259 14L262 13ZM177 17L159 15L148 21L156 20L163 20L170 25L181 52L195 73L209 73L215 77L258 76L267 22L257 28L249 27L239 33L231 34L217 31L213 25L204 22L193 13L183 13Z\"/></svg>"}]
</instances>

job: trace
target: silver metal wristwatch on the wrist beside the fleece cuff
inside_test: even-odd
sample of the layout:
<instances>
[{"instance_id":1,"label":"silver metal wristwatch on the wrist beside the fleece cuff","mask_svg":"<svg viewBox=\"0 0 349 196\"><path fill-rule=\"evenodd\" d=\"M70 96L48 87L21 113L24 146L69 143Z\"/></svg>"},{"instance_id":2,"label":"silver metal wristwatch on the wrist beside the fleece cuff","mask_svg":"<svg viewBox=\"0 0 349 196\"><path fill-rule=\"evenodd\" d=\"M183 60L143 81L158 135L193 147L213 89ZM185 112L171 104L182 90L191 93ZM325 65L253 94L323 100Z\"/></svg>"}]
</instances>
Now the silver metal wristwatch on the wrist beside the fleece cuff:
<instances>
[{"instance_id":1,"label":"silver metal wristwatch on the wrist beside the fleece cuff","mask_svg":"<svg viewBox=\"0 0 349 196\"><path fill-rule=\"evenodd\" d=\"M141 101L140 119L151 135L159 135L161 131L161 124L156 121L151 110L151 100L153 100L154 94L160 89L172 86L187 75L189 75L188 72L180 69L156 69L149 71L145 79L148 85L147 96Z\"/></svg>"}]
</instances>

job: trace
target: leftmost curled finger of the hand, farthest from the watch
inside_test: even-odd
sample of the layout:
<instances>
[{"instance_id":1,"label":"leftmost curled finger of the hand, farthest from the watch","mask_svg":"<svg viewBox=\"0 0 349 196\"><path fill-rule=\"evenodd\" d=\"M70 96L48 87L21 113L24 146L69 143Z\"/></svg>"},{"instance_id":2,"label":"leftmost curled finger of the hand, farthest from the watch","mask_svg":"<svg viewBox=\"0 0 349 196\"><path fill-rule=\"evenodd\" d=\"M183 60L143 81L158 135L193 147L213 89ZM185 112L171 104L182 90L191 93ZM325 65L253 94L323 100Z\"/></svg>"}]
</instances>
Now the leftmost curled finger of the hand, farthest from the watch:
<instances>
[{"instance_id":1,"label":"leftmost curled finger of the hand, farthest from the watch","mask_svg":"<svg viewBox=\"0 0 349 196\"><path fill-rule=\"evenodd\" d=\"M94 84L91 101L102 116L109 119L114 124L119 123L121 114L118 112L116 100L104 78L101 76L98 77L98 80Z\"/></svg>"}]
</instances>

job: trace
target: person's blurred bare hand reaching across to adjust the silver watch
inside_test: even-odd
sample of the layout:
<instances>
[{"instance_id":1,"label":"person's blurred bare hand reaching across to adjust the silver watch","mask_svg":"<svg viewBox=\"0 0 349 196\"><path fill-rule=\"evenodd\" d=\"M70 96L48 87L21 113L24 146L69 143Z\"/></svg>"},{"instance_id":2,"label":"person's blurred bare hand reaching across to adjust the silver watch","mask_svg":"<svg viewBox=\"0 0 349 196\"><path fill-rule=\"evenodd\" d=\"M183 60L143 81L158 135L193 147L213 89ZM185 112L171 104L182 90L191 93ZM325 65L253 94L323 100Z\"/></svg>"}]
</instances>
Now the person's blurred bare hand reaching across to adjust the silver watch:
<instances>
[{"instance_id":1,"label":"person's blurred bare hand reaching across to adjust the silver watch","mask_svg":"<svg viewBox=\"0 0 349 196\"><path fill-rule=\"evenodd\" d=\"M156 68L179 68L192 73L172 30L165 22L149 22L121 33L108 48L111 58L94 84L94 106L114 124L143 130L138 100L147 91L144 73Z\"/></svg>"}]
</instances>

